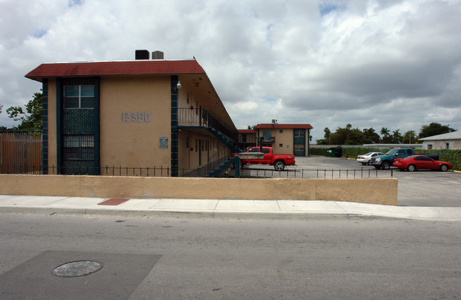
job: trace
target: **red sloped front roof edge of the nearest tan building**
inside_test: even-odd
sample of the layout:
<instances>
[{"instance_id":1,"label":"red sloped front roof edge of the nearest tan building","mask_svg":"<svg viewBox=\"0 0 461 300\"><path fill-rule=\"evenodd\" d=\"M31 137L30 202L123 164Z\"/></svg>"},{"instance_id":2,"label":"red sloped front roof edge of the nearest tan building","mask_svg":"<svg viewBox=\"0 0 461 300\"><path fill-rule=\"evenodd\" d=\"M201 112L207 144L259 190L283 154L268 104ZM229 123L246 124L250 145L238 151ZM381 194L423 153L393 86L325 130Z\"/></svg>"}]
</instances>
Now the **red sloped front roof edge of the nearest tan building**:
<instances>
[{"instance_id":1,"label":"red sloped front roof edge of the nearest tan building","mask_svg":"<svg viewBox=\"0 0 461 300\"><path fill-rule=\"evenodd\" d=\"M39 65L26 77L103 75L205 74L196 60L132 60L126 62L59 62Z\"/></svg>"}]
</instances>

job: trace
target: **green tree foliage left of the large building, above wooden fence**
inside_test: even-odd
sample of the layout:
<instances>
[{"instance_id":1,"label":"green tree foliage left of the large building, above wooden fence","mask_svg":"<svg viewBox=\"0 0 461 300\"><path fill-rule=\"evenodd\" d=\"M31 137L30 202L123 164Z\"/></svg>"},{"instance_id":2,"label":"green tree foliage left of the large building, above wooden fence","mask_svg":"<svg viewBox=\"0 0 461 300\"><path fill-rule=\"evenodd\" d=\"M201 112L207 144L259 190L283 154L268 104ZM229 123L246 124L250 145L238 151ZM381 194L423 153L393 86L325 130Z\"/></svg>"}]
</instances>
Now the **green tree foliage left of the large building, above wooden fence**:
<instances>
[{"instance_id":1,"label":"green tree foliage left of the large building, above wooden fence","mask_svg":"<svg viewBox=\"0 0 461 300\"><path fill-rule=\"evenodd\" d=\"M41 91L41 90L40 90ZM21 123L13 129L16 130L42 130L42 111L43 111L43 94L36 92L33 99L26 104L26 111L21 106L11 106L6 109L9 118Z\"/></svg>"}]
</instances>

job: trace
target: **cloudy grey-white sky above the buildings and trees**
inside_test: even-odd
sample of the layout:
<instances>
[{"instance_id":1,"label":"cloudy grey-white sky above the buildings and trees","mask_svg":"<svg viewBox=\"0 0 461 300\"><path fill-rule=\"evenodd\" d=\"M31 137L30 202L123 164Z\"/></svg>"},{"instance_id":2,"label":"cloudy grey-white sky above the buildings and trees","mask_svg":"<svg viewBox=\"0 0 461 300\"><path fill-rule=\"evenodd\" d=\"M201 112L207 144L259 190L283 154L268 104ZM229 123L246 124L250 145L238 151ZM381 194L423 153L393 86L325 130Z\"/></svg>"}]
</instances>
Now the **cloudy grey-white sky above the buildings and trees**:
<instances>
[{"instance_id":1,"label":"cloudy grey-white sky above the buildings and trees","mask_svg":"<svg viewBox=\"0 0 461 300\"><path fill-rule=\"evenodd\" d=\"M42 62L196 57L237 128L461 129L461 0L0 0L0 126Z\"/></svg>"}]
</instances>

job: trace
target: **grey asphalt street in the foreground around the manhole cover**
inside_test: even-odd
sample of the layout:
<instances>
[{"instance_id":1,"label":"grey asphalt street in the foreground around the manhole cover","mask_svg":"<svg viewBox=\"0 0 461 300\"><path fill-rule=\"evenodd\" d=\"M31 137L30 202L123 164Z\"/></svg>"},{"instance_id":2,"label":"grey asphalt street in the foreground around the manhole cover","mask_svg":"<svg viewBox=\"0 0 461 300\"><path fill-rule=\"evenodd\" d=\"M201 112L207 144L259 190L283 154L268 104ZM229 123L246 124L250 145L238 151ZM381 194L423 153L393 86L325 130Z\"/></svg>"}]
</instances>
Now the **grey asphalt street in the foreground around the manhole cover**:
<instances>
[{"instance_id":1,"label":"grey asphalt street in the foreground around the manhole cover","mask_svg":"<svg viewBox=\"0 0 461 300\"><path fill-rule=\"evenodd\" d=\"M0 299L460 299L461 222L0 214ZM57 277L75 261L101 270Z\"/></svg>"}]
</instances>

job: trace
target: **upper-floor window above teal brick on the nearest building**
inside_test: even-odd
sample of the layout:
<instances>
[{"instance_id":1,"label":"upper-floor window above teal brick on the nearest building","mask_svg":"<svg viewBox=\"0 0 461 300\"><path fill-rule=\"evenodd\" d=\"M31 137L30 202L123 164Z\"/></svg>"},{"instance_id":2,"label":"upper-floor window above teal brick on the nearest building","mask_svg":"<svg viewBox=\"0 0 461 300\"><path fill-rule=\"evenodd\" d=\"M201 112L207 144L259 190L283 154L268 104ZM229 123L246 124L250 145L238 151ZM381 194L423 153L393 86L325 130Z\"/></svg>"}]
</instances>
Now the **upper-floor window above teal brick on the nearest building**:
<instances>
[{"instance_id":1,"label":"upper-floor window above teal brick on the nearest building","mask_svg":"<svg viewBox=\"0 0 461 300\"><path fill-rule=\"evenodd\" d=\"M94 84L64 86L65 109L94 109Z\"/></svg>"}]
</instances>

